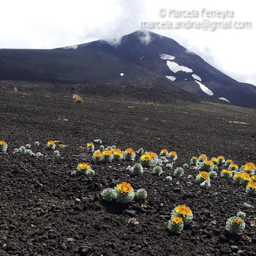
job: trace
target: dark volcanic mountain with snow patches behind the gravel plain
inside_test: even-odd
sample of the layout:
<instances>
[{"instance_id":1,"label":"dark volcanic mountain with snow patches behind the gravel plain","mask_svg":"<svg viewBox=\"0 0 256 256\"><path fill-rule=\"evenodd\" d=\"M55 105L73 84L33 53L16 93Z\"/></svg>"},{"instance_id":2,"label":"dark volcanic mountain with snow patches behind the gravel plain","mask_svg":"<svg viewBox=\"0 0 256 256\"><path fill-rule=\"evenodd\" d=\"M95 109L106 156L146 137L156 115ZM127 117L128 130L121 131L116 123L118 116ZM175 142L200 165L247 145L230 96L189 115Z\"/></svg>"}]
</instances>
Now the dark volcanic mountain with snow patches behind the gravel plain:
<instances>
[{"instance_id":1,"label":"dark volcanic mountain with snow patches behind the gravel plain","mask_svg":"<svg viewBox=\"0 0 256 256\"><path fill-rule=\"evenodd\" d=\"M206 95L195 79L214 93L213 98L225 97L232 104L256 108L256 87L226 76L196 54L171 38L148 32L149 44L143 43L143 32L123 36L119 45L96 42L52 50L0 50L0 79L51 81L61 83L115 83L140 87L185 90L195 96ZM160 54L175 57L175 63L193 72L173 72ZM120 76L124 73L124 76ZM174 76L170 81L166 76ZM209 97L208 95L206 95Z\"/></svg>"}]
</instances>

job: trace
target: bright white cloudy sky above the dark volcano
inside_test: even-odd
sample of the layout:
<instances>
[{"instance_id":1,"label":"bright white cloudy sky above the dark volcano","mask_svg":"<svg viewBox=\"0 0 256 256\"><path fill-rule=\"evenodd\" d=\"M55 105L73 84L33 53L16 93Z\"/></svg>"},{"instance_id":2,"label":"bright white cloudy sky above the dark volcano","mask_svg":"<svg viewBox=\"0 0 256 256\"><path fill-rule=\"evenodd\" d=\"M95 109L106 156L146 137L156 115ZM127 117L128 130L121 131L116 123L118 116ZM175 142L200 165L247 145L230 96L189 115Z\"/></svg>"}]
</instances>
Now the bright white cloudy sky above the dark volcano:
<instances>
[{"instance_id":1,"label":"bright white cloudy sky above the dark volcano","mask_svg":"<svg viewBox=\"0 0 256 256\"><path fill-rule=\"evenodd\" d=\"M141 22L250 22L250 28L214 31L148 29L173 38L237 81L256 86L254 0L1 0L0 4L0 49L52 49L99 39L120 42L121 36L141 29Z\"/></svg>"}]
</instances>

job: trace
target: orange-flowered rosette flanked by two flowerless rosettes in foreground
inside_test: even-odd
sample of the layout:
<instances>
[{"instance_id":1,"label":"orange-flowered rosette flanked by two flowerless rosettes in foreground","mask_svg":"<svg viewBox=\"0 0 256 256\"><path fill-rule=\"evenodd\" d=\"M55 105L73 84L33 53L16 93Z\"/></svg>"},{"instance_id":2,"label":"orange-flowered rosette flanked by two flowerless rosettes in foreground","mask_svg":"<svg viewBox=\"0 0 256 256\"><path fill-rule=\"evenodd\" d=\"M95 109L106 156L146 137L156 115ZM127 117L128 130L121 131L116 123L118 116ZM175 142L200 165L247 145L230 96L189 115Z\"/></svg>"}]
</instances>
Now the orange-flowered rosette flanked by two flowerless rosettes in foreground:
<instances>
[{"instance_id":1,"label":"orange-flowered rosette flanked by two flowerless rosettes in foreground","mask_svg":"<svg viewBox=\"0 0 256 256\"><path fill-rule=\"evenodd\" d=\"M116 185L116 188L113 190L113 198L118 203L129 203L134 198L135 193L131 184L127 182L122 182Z\"/></svg>"}]
</instances>

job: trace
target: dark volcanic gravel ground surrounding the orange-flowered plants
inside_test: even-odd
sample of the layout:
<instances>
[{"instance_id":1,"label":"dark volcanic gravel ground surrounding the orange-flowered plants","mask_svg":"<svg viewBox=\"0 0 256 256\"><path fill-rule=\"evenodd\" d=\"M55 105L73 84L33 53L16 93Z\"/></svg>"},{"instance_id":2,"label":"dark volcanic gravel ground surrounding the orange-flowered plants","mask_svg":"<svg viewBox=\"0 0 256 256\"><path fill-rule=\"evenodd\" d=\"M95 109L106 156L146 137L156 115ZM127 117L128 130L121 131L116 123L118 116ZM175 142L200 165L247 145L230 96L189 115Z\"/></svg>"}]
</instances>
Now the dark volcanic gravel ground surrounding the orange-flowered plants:
<instances>
[{"instance_id":1,"label":"dark volcanic gravel ground surrounding the orange-flowered plants","mask_svg":"<svg viewBox=\"0 0 256 256\"><path fill-rule=\"evenodd\" d=\"M84 92L82 104L74 103L72 90L19 90L26 92L0 91L0 140L8 143L8 154L0 155L0 255L256 255L255 196L232 180L219 175L205 190L195 184L196 170L177 178L165 166L160 177L150 172L131 177L126 168L132 163L93 164L92 154L79 148L100 138L122 150L175 150L175 167L203 153L239 165L256 163L255 110L182 99L172 104L164 94L163 102L170 103L154 104L147 90L148 103ZM61 156L54 157L44 150L48 140L68 147L57 146ZM41 143L38 148L35 141ZM44 156L12 154L27 143ZM92 163L95 176L70 175L82 161ZM122 181L147 189L147 201L102 202L101 191ZM167 223L178 204L191 207L194 218L173 235ZM225 223L239 210L246 212L246 228L241 236L230 235ZM127 224L132 217L138 225Z\"/></svg>"}]
</instances>

